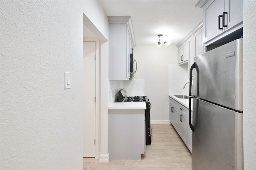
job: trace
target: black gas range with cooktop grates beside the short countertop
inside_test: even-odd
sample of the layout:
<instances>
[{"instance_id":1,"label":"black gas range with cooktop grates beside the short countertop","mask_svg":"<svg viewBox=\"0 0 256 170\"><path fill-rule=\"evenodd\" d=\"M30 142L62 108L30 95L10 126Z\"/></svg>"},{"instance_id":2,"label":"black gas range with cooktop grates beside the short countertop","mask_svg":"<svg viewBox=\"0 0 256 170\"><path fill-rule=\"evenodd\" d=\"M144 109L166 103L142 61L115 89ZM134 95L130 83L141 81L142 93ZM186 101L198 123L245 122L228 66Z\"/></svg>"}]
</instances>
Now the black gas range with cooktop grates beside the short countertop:
<instances>
[{"instance_id":1,"label":"black gas range with cooktop grates beside the short countertop","mask_svg":"<svg viewBox=\"0 0 256 170\"><path fill-rule=\"evenodd\" d=\"M151 126L150 126L150 109L151 104L147 96L126 96L127 91L123 88L118 92L118 102L146 102L145 110L145 126L146 126L146 145L151 144Z\"/></svg>"}]
</instances>

